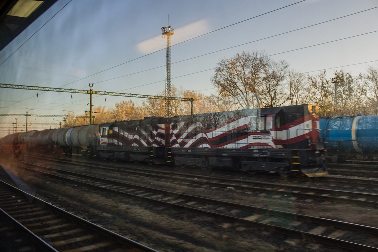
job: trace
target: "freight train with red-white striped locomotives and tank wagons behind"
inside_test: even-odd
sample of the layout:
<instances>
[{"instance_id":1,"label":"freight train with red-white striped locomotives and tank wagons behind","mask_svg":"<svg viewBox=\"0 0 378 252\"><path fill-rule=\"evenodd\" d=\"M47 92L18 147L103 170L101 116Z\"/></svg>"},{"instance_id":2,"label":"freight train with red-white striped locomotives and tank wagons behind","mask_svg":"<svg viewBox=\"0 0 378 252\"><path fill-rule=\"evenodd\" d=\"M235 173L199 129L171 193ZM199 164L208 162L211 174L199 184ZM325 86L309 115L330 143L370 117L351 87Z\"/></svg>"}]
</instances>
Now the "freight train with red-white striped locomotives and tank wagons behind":
<instances>
[{"instance_id":1,"label":"freight train with red-white striped locomotives and tank wagons behind","mask_svg":"<svg viewBox=\"0 0 378 252\"><path fill-rule=\"evenodd\" d=\"M327 174L314 105L245 109L35 131L28 146L83 156L234 170ZM58 151L59 152L59 151Z\"/></svg>"}]
</instances>

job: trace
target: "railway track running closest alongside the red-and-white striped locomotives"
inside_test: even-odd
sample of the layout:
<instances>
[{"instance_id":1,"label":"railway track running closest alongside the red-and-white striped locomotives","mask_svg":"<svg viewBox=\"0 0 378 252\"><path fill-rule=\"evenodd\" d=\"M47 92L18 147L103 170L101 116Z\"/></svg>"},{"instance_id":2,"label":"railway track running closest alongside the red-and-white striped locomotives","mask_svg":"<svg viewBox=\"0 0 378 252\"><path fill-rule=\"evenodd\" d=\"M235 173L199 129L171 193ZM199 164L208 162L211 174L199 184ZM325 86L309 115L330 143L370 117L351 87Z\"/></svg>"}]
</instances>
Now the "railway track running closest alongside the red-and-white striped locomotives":
<instances>
[{"instance_id":1,"label":"railway track running closest alongside the red-and-white striped locomotives","mask_svg":"<svg viewBox=\"0 0 378 252\"><path fill-rule=\"evenodd\" d=\"M70 163L67 161L59 161L69 163L71 165L79 165L86 167L88 164L82 162ZM36 164L31 164L36 165ZM183 183L191 183L194 185L203 185L220 188L233 188L235 190L243 190L250 193L256 193L259 196L273 195L275 198L286 197L291 200L317 200L332 201L339 203L349 203L364 206L378 206L378 194L353 192L346 190L322 189L317 187L297 186L290 184L279 184L270 182L250 181L243 179L218 178L204 175L190 175L177 172L152 171L150 169L114 169L103 167L102 165L91 165L91 168L104 169L108 172L129 173L135 176L148 176L151 178L169 179L173 181L181 181ZM53 170L53 168L46 169ZM56 171L58 171L57 169ZM59 172L70 173L67 170L59 170ZM75 174L75 173L71 173ZM87 175L90 178L90 175ZM366 184L364 185L366 187Z\"/></svg>"}]
</instances>

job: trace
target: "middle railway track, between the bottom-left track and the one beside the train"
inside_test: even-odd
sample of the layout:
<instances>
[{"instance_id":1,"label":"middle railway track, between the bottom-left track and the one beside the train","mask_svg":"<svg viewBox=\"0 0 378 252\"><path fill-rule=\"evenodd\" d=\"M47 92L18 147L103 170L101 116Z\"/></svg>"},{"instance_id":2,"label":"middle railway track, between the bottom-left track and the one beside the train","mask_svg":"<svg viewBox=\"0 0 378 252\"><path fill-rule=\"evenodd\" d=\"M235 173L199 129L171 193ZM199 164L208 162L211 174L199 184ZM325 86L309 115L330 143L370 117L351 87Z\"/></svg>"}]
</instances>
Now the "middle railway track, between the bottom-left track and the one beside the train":
<instances>
[{"instance_id":1,"label":"middle railway track, between the bottom-left track and the one beside the train","mask_svg":"<svg viewBox=\"0 0 378 252\"><path fill-rule=\"evenodd\" d=\"M23 164L25 165L26 163L23 162ZM73 184L81 184L82 186L105 190L141 201L168 206L170 209L185 209L215 217L217 220L221 219L229 223L271 230L285 235L290 234L290 236L304 237L308 241L316 241L344 249L378 251L378 239L376 238L378 229L375 227L169 192L42 167L36 164L28 165L39 167L39 169L35 170L27 167L23 167L23 169L52 176ZM356 237L358 237L359 243L355 243Z\"/></svg>"}]
</instances>

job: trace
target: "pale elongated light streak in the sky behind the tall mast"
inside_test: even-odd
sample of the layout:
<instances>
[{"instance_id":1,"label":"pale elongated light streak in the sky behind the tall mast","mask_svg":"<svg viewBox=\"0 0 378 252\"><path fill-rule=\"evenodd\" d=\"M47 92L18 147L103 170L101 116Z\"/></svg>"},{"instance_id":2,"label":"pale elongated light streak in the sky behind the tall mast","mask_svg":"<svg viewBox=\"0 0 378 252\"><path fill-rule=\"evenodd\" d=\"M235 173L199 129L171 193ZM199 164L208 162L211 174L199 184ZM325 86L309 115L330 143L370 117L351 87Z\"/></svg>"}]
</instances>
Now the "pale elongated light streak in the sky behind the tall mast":
<instances>
[{"instance_id":1,"label":"pale elongated light streak in the sky behind the tall mast","mask_svg":"<svg viewBox=\"0 0 378 252\"><path fill-rule=\"evenodd\" d=\"M172 45L209 31L208 22L204 19L183 26L181 28L172 28L175 29L175 34L172 36ZM141 53L152 53L154 51L165 48L166 43L167 39L163 39L162 36L156 36L138 43L138 45L136 45L136 48Z\"/></svg>"}]
</instances>

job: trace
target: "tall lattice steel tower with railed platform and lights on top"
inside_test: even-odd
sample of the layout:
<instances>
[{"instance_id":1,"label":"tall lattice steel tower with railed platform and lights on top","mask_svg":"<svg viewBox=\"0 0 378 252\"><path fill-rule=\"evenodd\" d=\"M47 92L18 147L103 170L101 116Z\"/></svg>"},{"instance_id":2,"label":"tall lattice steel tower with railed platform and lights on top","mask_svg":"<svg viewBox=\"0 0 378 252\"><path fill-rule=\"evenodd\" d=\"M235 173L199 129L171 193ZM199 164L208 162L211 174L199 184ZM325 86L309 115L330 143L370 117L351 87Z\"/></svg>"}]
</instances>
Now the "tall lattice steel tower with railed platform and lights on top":
<instances>
[{"instance_id":1,"label":"tall lattice steel tower with railed platform and lights on top","mask_svg":"<svg viewBox=\"0 0 378 252\"><path fill-rule=\"evenodd\" d=\"M174 34L174 29L170 28L169 25L169 17L168 17L168 26L163 26L161 28L161 34L163 34L163 38L167 36L167 66L166 66L166 117L171 117L171 109L170 109L170 100L169 97L172 97L170 91L170 36Z\"/></svg>"}]
</instances>

